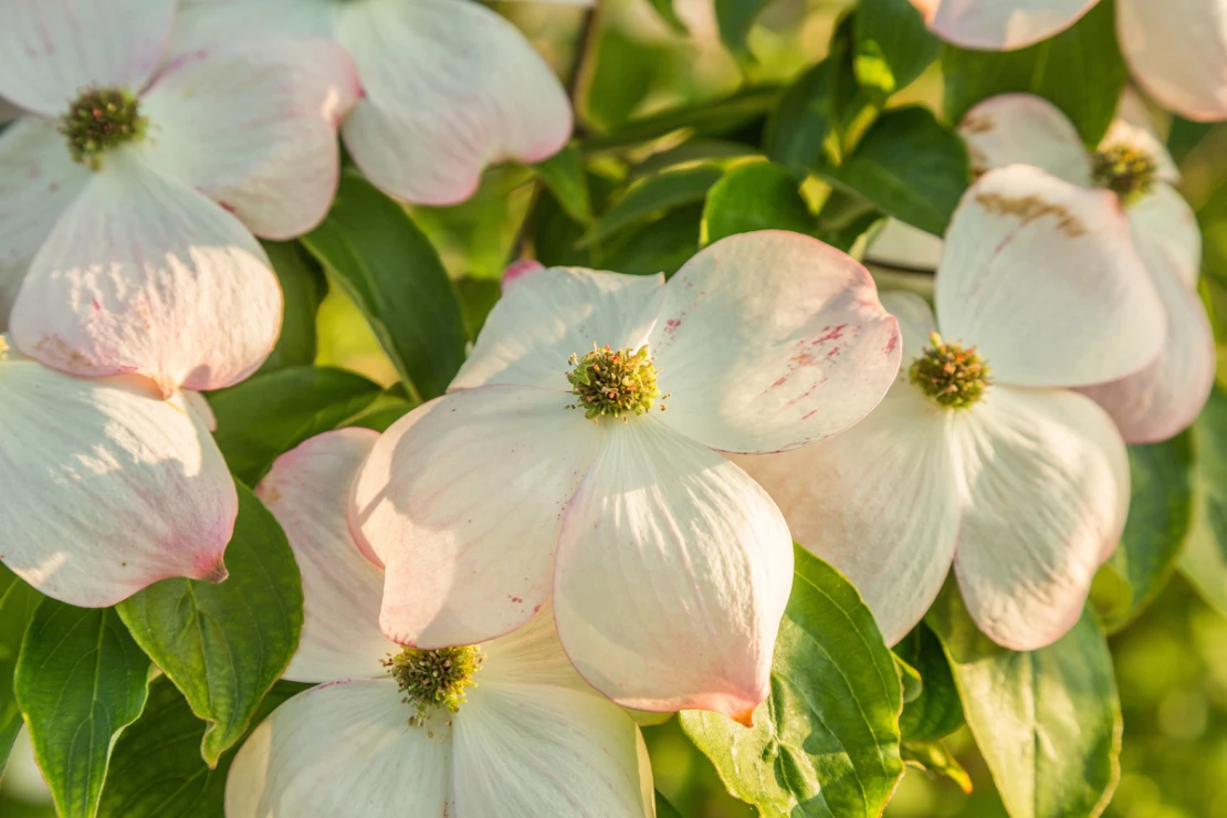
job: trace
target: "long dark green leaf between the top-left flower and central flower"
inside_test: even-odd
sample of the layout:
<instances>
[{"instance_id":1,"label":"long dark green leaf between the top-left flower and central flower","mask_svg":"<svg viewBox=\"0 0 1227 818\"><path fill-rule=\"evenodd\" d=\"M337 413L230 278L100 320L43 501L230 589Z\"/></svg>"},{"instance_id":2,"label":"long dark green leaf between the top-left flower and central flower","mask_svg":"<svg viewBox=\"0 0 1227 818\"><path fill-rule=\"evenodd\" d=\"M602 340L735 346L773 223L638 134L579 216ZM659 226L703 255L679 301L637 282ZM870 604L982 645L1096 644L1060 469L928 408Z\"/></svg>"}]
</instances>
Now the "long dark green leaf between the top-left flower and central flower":
<instances>
[{"instance_id":1,"label":"long dark green leaf between the top-left flower and central flower","mask_svg":"<svg viewBox=\"0 0 1227 818\"><path fill-rule=\"evenodd\" d=\"M302 238L367 316L405 385L438 397L469 341L439 254L399 204L346 170L333 210Z\"/></svg>"}]
</instances>

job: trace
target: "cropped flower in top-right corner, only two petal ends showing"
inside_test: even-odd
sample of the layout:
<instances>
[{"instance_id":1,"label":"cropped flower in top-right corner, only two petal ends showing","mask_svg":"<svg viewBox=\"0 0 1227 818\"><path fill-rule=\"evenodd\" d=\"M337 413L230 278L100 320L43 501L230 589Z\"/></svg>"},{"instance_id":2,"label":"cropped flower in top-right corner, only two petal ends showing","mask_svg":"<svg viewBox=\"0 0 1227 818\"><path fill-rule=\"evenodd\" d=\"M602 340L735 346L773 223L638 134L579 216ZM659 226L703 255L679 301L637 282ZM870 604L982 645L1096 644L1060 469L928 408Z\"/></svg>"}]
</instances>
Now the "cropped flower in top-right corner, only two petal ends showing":
<instances>
[{"instance_id":1,"label":"cropped flower in top-right corner, only two petal ends showing","mask_svg":"<svg viewBox=\"0 0 1227 818\"><path fill-rule=\"evenodd\" d=\"M1099 0L912 0L929 28L964 48L1012 50L1056 34ZM1117 0L1134 78L1189 119L1227 118L1227 0Z\"/></svg>"}]
</instances>

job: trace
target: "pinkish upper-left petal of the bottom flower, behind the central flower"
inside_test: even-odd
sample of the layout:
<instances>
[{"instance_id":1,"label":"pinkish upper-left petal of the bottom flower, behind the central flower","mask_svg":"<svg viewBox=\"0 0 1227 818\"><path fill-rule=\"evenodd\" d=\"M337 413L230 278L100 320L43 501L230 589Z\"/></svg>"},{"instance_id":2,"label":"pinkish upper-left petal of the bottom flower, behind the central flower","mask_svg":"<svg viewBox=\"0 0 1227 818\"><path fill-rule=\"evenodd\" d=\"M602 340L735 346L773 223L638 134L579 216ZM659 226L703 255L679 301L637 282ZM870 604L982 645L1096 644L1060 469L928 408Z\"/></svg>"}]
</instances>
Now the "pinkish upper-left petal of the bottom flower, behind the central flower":
<instances>
[{"instance_id":1,"label":"pinkish upper-left petal of the bottom flower, behind the central flower","mask_svg":"<svg viewBox=\"0 0 1227 818\"><path fill-rule=\"evenodd\" d=\"M400 652L379 630L383 571L350 535L350 487L379 439L371 429L325 432L277 457L255 493L290 540L303 581L303 632L286 678L382 677Z\"/></svg>"}]
</instances>

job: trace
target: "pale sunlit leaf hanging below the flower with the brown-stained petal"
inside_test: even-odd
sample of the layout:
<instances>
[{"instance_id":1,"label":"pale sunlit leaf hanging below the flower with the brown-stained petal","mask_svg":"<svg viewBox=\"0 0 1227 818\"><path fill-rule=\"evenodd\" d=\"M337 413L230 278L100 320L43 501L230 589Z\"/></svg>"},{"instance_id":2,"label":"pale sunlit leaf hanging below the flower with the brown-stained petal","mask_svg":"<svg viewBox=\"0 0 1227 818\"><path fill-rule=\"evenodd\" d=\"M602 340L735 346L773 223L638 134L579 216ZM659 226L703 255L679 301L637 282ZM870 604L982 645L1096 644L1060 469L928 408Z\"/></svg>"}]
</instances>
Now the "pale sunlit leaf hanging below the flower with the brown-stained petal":
<instances>
[{"instance_id":1,"label":"pale sunlit leaf hanging below the flower with the brown-stained petal","mask_svg":"<svg viewBox=\"0 0 1227 818\"><path fill-rule=\"evenodd\" d=\"M1112 654L1090 611L1031 652L975 629L953 583L929 612L967 724L1012 818L1091 818L1120 776L1120 700Z\"/></svg>"}]
</instances>

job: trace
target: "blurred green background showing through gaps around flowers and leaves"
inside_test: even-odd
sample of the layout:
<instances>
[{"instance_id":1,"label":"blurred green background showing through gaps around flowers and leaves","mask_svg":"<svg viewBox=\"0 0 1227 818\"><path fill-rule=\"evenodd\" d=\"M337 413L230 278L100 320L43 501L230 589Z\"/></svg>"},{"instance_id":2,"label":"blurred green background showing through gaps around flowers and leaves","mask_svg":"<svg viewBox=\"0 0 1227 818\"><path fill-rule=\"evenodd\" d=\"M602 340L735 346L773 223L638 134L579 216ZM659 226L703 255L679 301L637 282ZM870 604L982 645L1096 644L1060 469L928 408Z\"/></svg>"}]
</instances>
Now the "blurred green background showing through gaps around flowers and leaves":
<instances>
[{"instance_id":1,"label":"blurred green background showing through gaps around flowers and leaves","mask_svg":"<svg viewBox=\"0 0 1227 818\"><path fill-rule=\"evenodd\" d=\"M757 58L742 74L719 44L713 0L677 0L691 31L664 23L648 0L602 0L579 132L604 132L679 105L718 99L744 83L783 83L814 65L844 0L777 0L750 43ZM548 4L502 4L562 76L575 65L584 11ZM892 98L940 110L936 66ZM1227 308L1227 128L1177 125L1173 148L1185 172L1183 191L1205 233L1206 294ZM492 168L479 194L448 208L413 208L463 291L491 285L513 255L533 196L524 168ZM482 288L482 282L487 282ZM494 291L497 292L497 291ZM488 298L488 296L487 296ZM1227 315L1227 313L1220 313ZM1221 327L1216 320L1216 327ZM334 289L319 313L319 363L346 367L383 384L396 374L357 309ZM1220 356L1225 361L1223 356ZM1110 818L1227 818L1227 617L1200 600L1178 574L1142 617L1110 639L1124 713L1121 780ZM724 792L714 769L676 720L645 730L656 787L687 818L752 816ZM966 727L947 741L967 768L973 791L910 770L887 818L998 818L1005 812ZM0 784L0 817L50 816L28 743L20 740Z\"/></svg>"}]
</instances>

